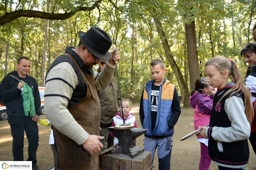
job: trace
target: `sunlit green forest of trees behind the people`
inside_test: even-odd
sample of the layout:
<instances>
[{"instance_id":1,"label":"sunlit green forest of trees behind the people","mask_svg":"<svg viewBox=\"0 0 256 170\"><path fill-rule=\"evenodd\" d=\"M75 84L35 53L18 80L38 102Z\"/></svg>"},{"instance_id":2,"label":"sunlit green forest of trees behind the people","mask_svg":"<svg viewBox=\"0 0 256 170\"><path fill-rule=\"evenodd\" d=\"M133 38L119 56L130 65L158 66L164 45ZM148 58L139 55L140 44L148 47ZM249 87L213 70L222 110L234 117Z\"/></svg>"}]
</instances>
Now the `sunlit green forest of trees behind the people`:
<instances>
[{"instance_id":1,"label":"sunlit green forest of trees behind the people","mask_svg":"<svg viewBox=\"0 0 256 170\"><path fill-rule=\"evenodd\" d=\"M78 31L106 31L120 49L122 98L140 101L151 80L149 63L158 58L165 77L189 106L204 63L215 55L235 60L244 76L240 51L253 41L256 0L5 0L0 2L0 81L30 58L30 76L44 86L52 61L66 46L76 47ZM94 69L97 70L98 66Z\"/></svg>"}]
</instances>

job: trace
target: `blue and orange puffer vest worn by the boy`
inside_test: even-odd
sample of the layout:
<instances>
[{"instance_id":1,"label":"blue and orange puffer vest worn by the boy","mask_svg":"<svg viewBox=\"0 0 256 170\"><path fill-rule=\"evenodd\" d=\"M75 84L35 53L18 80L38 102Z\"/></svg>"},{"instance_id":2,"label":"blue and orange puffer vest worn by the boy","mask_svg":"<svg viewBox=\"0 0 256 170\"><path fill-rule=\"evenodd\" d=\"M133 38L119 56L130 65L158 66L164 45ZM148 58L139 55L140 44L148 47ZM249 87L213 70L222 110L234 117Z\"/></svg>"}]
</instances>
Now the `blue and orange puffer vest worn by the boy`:
<instances>
[{"instance_id":1,"label":"blue and orange puffer vest worn by the boy","mask_svg":"<svg viewBox=\"0 0 256 170\"><path fill-rule=\"evenodd\" d=\"M156 126L154 130L151 129L151 89L155 80L148 81L144 86L143 92L143 111L144 121L143 129L148 129L145 133L147 136L155 137L169 137L174 133L174 129L170 129L167 125L168 120L172 116L172 99L175 85L171 84L169 80L164 78L163 85L160 85L157 103Z\"/></svg>"}]
</instances>

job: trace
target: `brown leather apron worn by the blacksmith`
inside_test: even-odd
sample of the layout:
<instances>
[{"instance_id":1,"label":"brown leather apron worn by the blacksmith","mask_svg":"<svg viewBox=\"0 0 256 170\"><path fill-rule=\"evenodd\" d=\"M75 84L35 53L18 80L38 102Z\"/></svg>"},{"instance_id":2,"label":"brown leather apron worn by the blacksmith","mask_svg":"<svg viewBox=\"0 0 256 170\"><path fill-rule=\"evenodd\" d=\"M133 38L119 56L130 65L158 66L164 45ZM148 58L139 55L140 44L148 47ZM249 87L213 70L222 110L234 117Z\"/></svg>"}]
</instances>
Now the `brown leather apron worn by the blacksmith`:
<instances>
[{"instance_id":1,"label":"brown leather apron worn by the blacksmith","mask_svg":"<svg viewBox=\"0 0 256 170\"><path fill-rule=\"evenodd\" d=\"M83 100L68 108L86 132L90 135L100 135L100 99L97 95L93 75L84 75L74 57L63 53L73 60L84 77L87 85L87 95ZM53 128L58 152L60 156L61 170L98 170L98 153L90 155L83 145L78 145L74 140L63 135L56 128ZM74 131L76 133L76 131Z\"/></svg>"}]
</instances>

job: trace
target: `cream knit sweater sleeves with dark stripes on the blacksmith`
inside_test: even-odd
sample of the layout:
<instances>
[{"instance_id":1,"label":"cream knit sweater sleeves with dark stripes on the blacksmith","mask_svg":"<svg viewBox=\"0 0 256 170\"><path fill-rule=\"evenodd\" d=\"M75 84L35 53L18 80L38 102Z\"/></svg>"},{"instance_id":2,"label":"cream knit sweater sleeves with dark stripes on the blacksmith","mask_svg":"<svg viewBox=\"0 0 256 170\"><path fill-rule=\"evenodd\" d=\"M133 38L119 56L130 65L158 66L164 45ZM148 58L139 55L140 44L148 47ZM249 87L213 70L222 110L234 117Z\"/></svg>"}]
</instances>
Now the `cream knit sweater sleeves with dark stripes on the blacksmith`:
<instances>
[{"instance_id":1,"label":"cream knit sweater sleeves with dark stripes on the blacksmith","mask_svg":"<svg viewBox=\"0 0 256 170\"><path fill-rule=\"evenodd\" d=\"M96 90L102 90L108 86L114 70L115 66L112 66L108 62L100 74L92 70ZM67 82L54 80L56 77L64 79ZM52 80L48 81L50 79ZM61 62L51 68L47 74L46 82L44 91L44 95L46 95L44 98L45 116L62 134L74 140L78 145L83 144L89 137L89 134L76 122L67 109L68 99L71 99L74 89L79 84L74 68L68 62ZM59 96L50 96L50 94L58 94Z\"/></svg>"}]
</instances>

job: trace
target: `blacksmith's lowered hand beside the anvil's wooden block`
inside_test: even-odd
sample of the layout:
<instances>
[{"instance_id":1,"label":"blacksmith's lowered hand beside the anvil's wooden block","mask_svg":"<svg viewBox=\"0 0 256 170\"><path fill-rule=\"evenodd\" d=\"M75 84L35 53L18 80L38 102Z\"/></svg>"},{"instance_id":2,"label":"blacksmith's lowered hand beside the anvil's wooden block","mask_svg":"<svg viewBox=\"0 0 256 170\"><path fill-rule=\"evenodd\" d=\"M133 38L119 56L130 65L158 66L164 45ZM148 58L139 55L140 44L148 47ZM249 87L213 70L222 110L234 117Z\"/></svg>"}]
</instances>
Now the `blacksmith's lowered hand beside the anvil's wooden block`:
<instances>
[{"instance_id":1,"label":"blacksmith's lowered hand beside the anvil's wooden block","mask_svg":"<svg viewBox=\"0 0 256 170\"><path fill-rule=\"evenodd\" d=\"M89 135L88 139L82 145L91 155L94 155L103 148L102 143L99 141L102 139L104 139L104 136Z\"/></svg>"}]
</instances>

